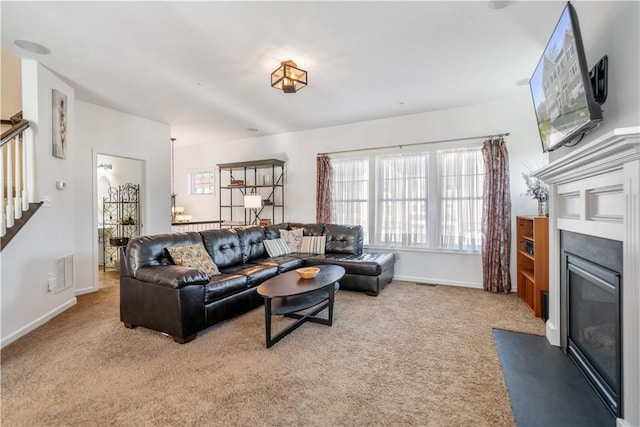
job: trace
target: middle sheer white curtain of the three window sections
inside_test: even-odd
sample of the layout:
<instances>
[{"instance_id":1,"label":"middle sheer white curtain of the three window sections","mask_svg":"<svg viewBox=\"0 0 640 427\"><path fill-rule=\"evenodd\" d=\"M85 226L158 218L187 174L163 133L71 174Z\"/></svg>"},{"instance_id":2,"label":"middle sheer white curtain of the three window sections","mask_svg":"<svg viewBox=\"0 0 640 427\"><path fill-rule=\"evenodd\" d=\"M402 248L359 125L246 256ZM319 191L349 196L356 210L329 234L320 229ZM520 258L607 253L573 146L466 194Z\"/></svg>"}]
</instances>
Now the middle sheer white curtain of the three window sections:
<instances>
[{"instance_id":1,"label":"middle sheer white curtain of the three window sections","mask_svg":"<svg viewBox=\"0 0 640 427\"><path fill-rule=\"evenodd\" d=\"M428 246L427 153L376 157L376 243Z\"/></svg>"}]
</instances>

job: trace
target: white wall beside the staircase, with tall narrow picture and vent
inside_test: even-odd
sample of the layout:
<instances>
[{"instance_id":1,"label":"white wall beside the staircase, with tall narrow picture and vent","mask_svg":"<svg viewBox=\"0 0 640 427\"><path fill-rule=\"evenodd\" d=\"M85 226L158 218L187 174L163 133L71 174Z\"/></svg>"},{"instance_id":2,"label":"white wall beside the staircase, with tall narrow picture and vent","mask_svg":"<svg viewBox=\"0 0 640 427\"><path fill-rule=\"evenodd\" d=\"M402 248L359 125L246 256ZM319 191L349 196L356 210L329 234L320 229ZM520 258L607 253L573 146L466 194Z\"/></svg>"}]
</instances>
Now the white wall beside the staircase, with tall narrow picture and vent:
<instances>
[{"instance_id":1,"label":"white wall beside the staircase, with tall narrow picture and vent","mask_svg":"<svg viewBox=\"0 0 640 427\"><path fill-rule=\"evenodd\" d=\"M54 259L75 254L74 90L32 60L22 61L23 113L31 122L40 195L51 198L2 250L2 345L24 335L76 302L75 290L48 292ZM52 155L52 90L67 96L67 158ZM65 190L56 189L64 181ZM77 261L77 260L76 260ZM77 271L77 270L76 270Z\"/></svg>"}]
</instances>

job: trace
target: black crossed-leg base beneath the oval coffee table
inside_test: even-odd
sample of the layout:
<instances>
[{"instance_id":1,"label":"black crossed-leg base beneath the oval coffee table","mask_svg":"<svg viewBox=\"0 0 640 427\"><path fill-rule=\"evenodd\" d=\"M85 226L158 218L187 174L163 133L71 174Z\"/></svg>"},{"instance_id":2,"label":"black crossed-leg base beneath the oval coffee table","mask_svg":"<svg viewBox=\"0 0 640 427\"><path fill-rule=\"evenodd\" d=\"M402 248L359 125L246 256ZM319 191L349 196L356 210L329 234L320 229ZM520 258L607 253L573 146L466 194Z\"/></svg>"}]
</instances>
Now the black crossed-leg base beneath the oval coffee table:
<instances>
[{"instance_id":1,"label":"black crossed-leg base beneath the oval coffee table","mask_svg":"<svg viewBox=\"0 0 640 427\"><path fill-rule=\"evenodd\" d=\"M333 288L333 292L329 290ZM265 329L267 348L271 347L286 335L296 330L304 322L319 323L331 326L333 323L333 302L335 293L340 289L338 282L333 286L328 285L321 289L300 295L292 295L287 297L265 298ZM309 313L301 314L300 311L317 306ZM321 311L329 309L327 318L316 317ZM295 323L289 325L275 336L271 336L271 317L282 315L298 319Z\"/></svg>"}]
</instances>

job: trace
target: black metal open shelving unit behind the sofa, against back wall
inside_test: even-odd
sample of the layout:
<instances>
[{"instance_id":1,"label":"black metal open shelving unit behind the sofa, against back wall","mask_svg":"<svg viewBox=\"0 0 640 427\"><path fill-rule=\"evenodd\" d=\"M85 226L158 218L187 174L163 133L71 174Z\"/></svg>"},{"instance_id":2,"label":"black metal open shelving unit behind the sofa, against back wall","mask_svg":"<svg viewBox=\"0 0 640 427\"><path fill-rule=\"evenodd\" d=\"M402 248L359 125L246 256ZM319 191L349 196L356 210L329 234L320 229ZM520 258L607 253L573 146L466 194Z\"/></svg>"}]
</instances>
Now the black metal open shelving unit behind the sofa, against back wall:
<instances>
[{"instance_id":1,"label":"black metal open shelving unit behind the sofa, against back wall","mask_svg":"<svg viewBox=\"0 0 640 427\"><path fill-rule=\"evenodd\" d=\"M222 227L284 222L284 164L277 159L218 164ZM245 196L257 197L247 206Z\"/></svg>"}]
</instances>

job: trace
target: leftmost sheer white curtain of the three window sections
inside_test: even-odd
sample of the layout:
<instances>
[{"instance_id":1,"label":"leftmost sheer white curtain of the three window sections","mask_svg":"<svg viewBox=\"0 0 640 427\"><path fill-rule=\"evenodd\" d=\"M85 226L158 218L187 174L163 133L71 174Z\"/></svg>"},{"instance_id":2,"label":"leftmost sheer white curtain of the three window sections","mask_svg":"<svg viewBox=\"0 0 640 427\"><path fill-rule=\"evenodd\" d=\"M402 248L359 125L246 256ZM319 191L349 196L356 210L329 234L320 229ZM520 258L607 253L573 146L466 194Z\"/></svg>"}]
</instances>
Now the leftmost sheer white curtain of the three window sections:
<instances>
[{"instance_id":1,"label":"leftmost sheer white curtain of the three window sections","mask_svg":"<svg viewBox=\"0 0 640 427\"><path fill-rule=\"evenodd\" d=\"M369 159L331 159L333 212L336 224L359 224L369 243Z\"/></svg>"}]
</instances>

